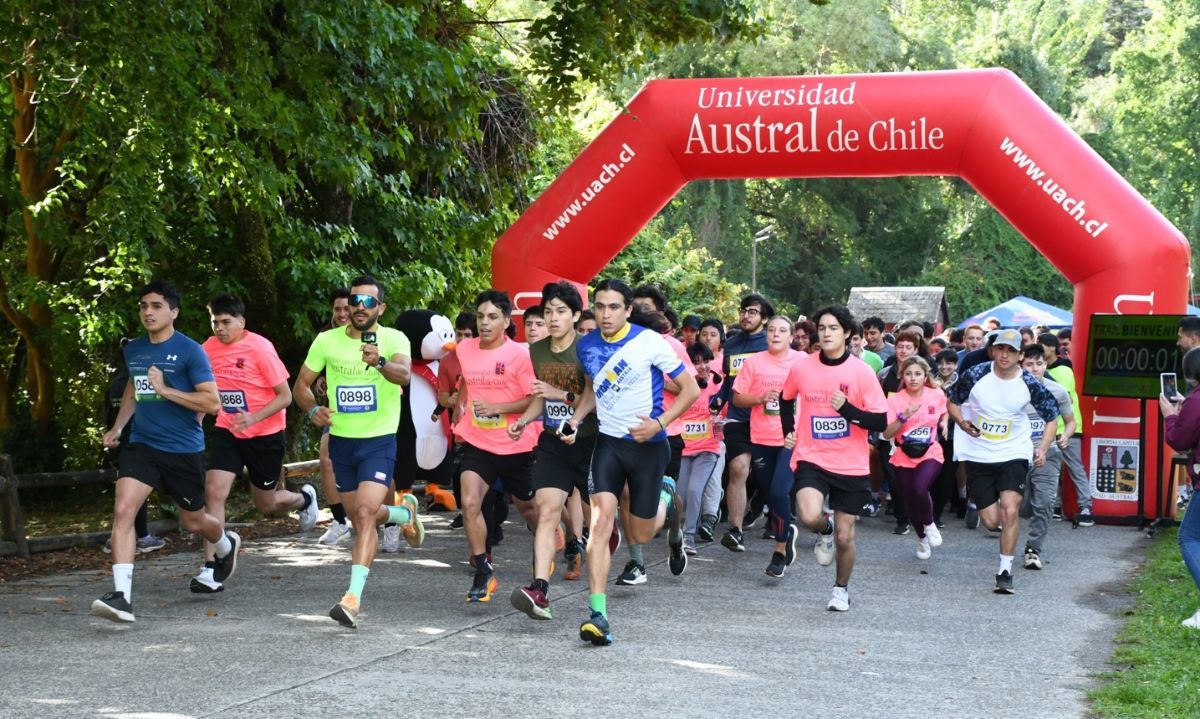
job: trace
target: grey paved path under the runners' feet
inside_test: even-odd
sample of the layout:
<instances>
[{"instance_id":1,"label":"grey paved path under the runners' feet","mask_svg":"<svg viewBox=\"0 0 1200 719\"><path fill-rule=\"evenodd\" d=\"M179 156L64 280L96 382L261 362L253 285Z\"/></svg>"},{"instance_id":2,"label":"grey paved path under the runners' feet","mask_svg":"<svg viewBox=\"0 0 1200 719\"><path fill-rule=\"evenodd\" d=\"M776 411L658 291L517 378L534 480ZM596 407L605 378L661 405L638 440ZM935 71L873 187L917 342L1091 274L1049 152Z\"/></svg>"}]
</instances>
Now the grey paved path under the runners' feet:
<instances>
[{"instance_id":1,"label":"grey paved path under the runners' feet","mask_svg":"<svg viewBox=\"0 0 1200 719\"><path fill-rule=\"evenodd\" d=\"M326 617L349 552L319 527L247 543L216 595L187 592L198 557L139 559L132 625L88 613L103 573L0 588L0 717L1081 717L1146 544L1054 522L1046 568L1000 597L996 535L952 521L922 562L914 535L866 519L836 613L811 535L781 580L757 529L744 555L702 545L682 577L661 538L648 583L610 587L616 642L596 648L577 635L583 581L552 582L552 622L509 604L529 576L523 527L496 550L499 593L468 605L464 538L426 516L425 547L376 561L356 630Z\"/></svg>"}]
</instances>

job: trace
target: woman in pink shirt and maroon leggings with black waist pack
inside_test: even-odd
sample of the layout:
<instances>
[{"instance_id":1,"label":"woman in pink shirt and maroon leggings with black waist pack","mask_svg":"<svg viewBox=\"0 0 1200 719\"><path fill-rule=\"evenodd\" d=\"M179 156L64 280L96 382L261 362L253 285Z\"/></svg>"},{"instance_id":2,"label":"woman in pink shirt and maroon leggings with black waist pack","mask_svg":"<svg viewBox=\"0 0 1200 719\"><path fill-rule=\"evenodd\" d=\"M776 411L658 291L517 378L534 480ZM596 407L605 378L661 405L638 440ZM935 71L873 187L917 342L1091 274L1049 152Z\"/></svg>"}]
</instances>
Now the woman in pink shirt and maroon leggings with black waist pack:
<instances>
[{"instance_id":1,"label":"woman in pink shirt and maroon leggings with black waist pack","mask_svg":"<svg viewBox=\"0 0 1200 719\"><path fill-rule=\"evenodd\" d=\"M946 436L946 394L934 385L929 363L919 356L905 359L899 367L901 391L888 397L888 427L884 439L895 438L892 468L908 520L917 531L917 558L928 559L931 547L942 544L934 523L934 501L929 490L942 472Z\"/></svg>"}]
</instances>

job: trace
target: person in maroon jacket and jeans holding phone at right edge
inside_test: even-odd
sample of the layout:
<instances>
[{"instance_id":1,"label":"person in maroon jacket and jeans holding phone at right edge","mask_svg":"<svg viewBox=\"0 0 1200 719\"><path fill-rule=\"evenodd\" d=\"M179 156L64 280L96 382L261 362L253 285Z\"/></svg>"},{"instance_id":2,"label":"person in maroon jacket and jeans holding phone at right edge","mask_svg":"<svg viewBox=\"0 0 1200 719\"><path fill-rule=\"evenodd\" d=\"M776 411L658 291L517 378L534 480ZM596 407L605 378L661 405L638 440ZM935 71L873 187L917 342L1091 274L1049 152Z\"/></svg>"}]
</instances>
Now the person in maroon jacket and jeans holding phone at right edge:
<instances>
[{"instance_id":1,"label":"person in maroon jacket and jeans holding phone at right edge","mask_svg":"<svg viewBox=\"0 0 1200 719\"><path fill-rule=\"evenodd\" d=\"M1189 349L1183 355L1183 379L1188 383L1188 388L1194 388L1200 383L1200 347ZM1198 453L1200 453L1200 393L1190 393L1180 403L1177 403L1178 399L1178 394L1174 397L1168 397L1165 394L1159 395L1158 407L1166 424L1166 443L1172 449L1188 454L1188 479L1195 487L1200 485L1200 477L1196 472ZM1180 522L1180 553L1183 555L1183 563L1192 573L1192 581L1200 588L1200 510L1192 511L1196 503L1193 503L1192 507L1188 507L1188 511ZM1189 629L1200 629L1200 609L1183 619L1183 625Z\"/></svg>"}]
</instances>

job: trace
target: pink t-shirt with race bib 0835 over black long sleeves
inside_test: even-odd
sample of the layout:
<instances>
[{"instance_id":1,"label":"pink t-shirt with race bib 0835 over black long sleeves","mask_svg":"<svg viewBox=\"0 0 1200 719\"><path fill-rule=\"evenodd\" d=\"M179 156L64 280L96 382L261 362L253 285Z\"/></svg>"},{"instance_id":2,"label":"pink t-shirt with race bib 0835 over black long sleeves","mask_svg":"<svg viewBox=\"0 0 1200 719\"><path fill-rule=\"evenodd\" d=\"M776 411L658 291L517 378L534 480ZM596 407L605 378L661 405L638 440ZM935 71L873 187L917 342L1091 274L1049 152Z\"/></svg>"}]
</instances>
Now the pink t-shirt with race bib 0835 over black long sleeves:
<instances>
[{"instance_id":1,"label":"pink t-shirt with race bib 0835 over black long sleeves","mask_svg":"<svg viewBox=\"0 0 1200 719\"><path fill-rule=\"evenodd\" d=\"M834 474L866 477L871 473L868 432L838 414L829 400L840 389L863 412L884 413L888 402L883 389L871 367L857 356L836 365L823 364L820 352L802 355L784 382L782 397L798 397L792 469L799 462L811 462Z\"/></svg>"}]
</instances>

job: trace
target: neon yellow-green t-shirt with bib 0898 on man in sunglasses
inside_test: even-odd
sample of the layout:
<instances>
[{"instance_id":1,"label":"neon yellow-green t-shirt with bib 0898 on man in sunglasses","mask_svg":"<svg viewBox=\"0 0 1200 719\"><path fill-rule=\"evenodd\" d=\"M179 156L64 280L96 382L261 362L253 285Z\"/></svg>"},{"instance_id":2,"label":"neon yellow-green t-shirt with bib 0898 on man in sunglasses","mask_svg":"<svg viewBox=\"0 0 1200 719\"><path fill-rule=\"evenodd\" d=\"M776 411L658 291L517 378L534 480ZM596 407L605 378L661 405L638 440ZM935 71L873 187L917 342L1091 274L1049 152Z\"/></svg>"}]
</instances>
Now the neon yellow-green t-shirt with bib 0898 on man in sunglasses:
<instances>
[{"instance_id":1,"label":"neon yellow-green t-shirt with bib 0898 on man in sunglasses","mask_svg":"<svg viewBox=\"0 0 1200 719\"><path fill-rule=\"evenodd\" d=\"M400 394L397 384L388 382L378 367L362 361L362 341L338 326L317 335L304 364L313 372L325 371L329 383L329 408L334 411L334 437L370 439L395 435L400 426ZM379 356L408 355L408 337L400 330L377 328Z\"/></svg>"}]
</instances>

